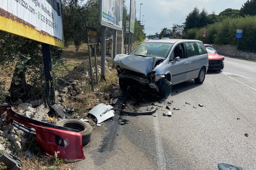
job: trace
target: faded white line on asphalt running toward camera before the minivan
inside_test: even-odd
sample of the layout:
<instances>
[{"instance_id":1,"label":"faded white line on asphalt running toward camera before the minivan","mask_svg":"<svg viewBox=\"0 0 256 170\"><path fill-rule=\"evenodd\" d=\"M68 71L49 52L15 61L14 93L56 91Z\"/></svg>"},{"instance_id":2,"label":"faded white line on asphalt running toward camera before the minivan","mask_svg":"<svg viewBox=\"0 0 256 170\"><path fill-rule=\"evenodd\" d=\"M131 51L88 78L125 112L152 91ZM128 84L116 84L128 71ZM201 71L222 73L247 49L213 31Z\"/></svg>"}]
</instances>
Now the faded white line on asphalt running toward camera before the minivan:
<instances>
[{"instance_id":1,"label":"faded white line on asphalt running toward camera before the minivan","mask_svg":"<svg viewBox=\"0 0 256 170\"><path fill-rule=\"evenodd\" d=\"M161 140L158 117L153 117L153 123L154 123L154 130L155 130L157 165L161 170L166 170L166 160L164 157L164 148L163 148L163 142Z\"/></svg>"}]
</instances>

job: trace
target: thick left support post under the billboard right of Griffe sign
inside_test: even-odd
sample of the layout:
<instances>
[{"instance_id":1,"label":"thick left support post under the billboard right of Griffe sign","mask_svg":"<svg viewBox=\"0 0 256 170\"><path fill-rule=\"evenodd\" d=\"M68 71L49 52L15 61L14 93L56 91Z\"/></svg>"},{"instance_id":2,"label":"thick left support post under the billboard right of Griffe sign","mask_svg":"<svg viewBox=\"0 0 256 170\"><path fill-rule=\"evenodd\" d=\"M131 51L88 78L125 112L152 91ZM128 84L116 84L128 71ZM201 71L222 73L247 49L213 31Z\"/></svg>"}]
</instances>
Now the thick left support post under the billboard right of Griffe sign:
<instances>
[{"instance_id":1,"label":"thick left support post under the billboard right of Griffe sign","mask_svg":"<svg viewBox=\"0 0 256 170\"><path fill-rule=\"evenodd\" d=\"M101 80L105 80L106 27L101 27Z\"/></svg>"}]
</instances>

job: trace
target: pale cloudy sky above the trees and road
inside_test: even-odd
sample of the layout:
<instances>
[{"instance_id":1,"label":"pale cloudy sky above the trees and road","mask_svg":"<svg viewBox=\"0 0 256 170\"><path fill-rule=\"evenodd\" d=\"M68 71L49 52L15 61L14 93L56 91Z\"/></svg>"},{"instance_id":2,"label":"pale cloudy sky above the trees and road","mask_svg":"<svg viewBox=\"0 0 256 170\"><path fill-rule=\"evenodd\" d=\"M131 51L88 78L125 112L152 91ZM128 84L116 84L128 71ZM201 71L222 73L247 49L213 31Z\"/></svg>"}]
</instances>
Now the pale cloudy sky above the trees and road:
<instances>
[{"instance_id":1,"label":"pale cloudy sky above the trees and road","mask_svg":"<svg viewBox=\"0 0 256 170\"><path fill-rule=\"evenodd\" d=\"M227 8L241 9L247 0L135 0L136 18L145 25L146 35L160 33L166 27L171 29L173 24L182 25L186 16L197 6L199 11L206 9L208 14L215 11L219 14ZM142 5L140 5L142 4ZM130 12L130 0L126 0L125 6ZM140 9L141 7L141 9ZM145 22L144 22L145 21Z\"/></svg>"}]
</instances>

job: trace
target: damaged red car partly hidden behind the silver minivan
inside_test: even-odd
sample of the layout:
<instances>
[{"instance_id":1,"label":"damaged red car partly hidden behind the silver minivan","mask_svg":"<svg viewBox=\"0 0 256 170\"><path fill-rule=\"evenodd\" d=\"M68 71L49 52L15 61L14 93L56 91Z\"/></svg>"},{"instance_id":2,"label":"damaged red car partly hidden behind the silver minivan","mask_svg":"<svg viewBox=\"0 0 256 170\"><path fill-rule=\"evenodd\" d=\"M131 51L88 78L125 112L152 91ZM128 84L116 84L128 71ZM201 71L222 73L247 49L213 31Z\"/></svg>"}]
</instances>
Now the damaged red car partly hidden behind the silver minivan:
<instances>
[{"instance_id":1,"label":"damaged red car partly hidden behind the silver minivan","mask_svg":"<svg viewBox=\"0 0 256 170\"><path fill-rule=\"evenodd\" d=\"M208 70L222 70L224 68L224 56L219 55L218 50L213 49L212 45L204 44L208 52Z\"/></svg>"}]
</instances>

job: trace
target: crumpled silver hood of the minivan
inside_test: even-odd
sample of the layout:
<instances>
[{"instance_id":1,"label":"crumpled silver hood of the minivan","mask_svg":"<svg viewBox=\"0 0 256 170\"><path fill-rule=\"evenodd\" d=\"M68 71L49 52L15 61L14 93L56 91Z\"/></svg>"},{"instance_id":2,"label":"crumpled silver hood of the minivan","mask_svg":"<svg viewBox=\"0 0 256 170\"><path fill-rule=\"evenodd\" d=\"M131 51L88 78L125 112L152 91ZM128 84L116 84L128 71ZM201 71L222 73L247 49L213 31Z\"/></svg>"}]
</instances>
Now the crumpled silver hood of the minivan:
<instances>
[{"instance_id":1,"label":"crumpled silver hood of the minivan","mask_svg":"<svg viewBox=\"0 0 256 170\"><path fill-rule=\"evenodd\" d=\"M113 63L121 68L132 70L147 75L155 66L157 58L141 57L126 54L118 54L115 56Z\"/></svg>"}]
</instances>

